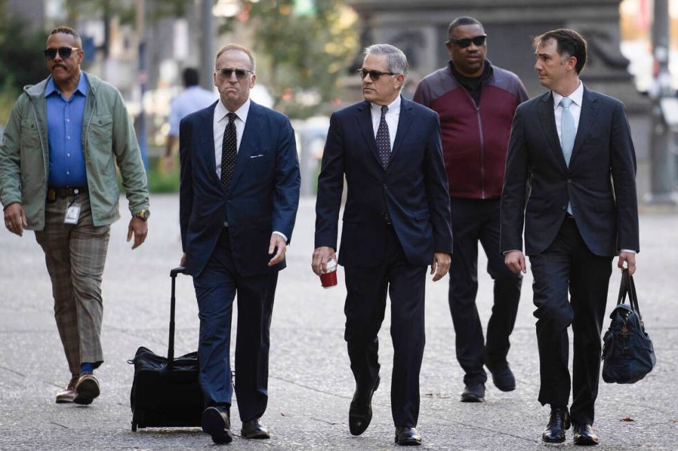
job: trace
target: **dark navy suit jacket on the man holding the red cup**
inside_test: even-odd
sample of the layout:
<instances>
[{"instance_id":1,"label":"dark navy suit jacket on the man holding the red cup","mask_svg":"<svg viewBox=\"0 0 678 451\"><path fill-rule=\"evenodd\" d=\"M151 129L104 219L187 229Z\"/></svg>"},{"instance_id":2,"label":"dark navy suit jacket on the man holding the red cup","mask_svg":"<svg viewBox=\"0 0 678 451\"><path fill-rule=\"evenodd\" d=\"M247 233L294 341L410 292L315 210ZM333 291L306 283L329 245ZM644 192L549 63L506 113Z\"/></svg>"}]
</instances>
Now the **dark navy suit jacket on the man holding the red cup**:
<instances>
[{"instance_id":1,"label":"dark navy suit jacket on the man holding the red cup","mask_svg":"<svg viewBox=\"0 0 678 451\"><path fill-rule=\"evenodd\" d=\"M401 99L390 164L384 169L369 108L369 102L360 102L336 111L330 118L318 177L315 247L337 249L346 176L340 265L375 267L383 263L385 213L407 262L430 265L434 252L452 253L450 197L438 115Z\"/></svg>"}]
</instances>

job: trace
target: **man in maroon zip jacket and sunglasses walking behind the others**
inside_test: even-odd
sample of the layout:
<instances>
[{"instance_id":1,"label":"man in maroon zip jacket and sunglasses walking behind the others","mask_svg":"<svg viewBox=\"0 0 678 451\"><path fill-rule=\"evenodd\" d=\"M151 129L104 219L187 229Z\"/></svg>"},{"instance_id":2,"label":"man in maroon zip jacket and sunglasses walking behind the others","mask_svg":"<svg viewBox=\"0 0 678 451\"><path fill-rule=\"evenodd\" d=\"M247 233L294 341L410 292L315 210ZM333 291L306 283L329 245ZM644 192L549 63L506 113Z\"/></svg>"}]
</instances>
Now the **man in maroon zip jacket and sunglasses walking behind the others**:
<instances>
[{"instance_id":1,"label":"man in maroon zip jacket and sunglasses walking behind the others","mask_svg":"<svg viewBox=\"0 0 678 451\"><path fill-rule=\"evenodd\" d=\"M457 360L466 373L461 401L479 402L485 399L487 381L483 365L492 373L497 388L504 392L515 389L506 354L522 278L506 269L500 253L500 196L513 113L528 97L514 73L486 60L486 35L479 21L455 19L448 37L450 63L421 80L414 101L440 116L455 234L449 302ZM478 241L494 280L486 342L475 305Z\"/></svg>"}]
</instances>

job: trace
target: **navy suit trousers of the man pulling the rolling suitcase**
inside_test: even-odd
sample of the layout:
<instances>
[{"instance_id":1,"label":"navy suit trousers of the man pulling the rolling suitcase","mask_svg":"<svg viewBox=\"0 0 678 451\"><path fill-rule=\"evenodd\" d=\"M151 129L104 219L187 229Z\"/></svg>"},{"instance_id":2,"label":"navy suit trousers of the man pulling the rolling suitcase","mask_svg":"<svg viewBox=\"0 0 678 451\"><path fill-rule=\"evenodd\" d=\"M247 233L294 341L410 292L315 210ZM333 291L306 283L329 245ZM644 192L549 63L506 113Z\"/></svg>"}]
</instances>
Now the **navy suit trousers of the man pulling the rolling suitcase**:
<instances>
[{"instance_id":1,"label":"navy suit trousers of the man pulling the rolling suitcase","mask_svg":"<svg viewBox=\"0 0 678 451\"><path fill-rule=\"evenodd\" d=\"M277 272L244 277L231 255L224 229L212 256L193 279L200 317L199 381L205 406L232 402L230 335L237 294L235 395L242 421L261 417L268 402L268 329L271 326Z\"/></svg>"}]
</instances>

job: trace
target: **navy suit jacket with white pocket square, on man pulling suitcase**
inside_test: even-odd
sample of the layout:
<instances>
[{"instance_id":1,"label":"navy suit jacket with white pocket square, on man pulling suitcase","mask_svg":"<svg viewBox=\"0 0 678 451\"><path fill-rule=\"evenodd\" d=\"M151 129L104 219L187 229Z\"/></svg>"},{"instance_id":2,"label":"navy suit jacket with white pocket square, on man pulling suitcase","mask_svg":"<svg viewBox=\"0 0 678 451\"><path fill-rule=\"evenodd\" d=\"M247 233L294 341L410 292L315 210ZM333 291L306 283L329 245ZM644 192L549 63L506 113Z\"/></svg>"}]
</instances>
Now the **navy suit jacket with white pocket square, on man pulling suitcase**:
<instances>
[{"instance_id":1,"label":"navy suit jacket with white pocket square, on man pulling suitcase","mask_svg":"<svg viewBox=\"0 0 678 451\"><path fill-rule=\"evenodd\" d=\"M181 192L179 219L186 269L201 273L228 220L232 258L242 276L266 274L271 233L292 237L299 206L299 161L289 119L250 103L228 191L214 156L214 102L187 115L179 126Z\"/></svg>"}]
</instances>

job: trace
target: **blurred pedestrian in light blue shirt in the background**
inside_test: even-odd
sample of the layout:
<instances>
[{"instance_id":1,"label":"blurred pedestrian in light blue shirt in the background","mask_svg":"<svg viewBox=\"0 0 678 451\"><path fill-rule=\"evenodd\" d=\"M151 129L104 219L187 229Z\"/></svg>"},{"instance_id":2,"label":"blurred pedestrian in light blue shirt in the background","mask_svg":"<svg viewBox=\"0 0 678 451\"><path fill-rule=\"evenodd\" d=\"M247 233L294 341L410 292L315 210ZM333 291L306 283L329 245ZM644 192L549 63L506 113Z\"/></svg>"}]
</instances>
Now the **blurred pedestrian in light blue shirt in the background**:
<instances>
[{"instance_id":1,"label":"blurred pedestrian in light blue shirt in the background","mask_svg":"<svg viewBox=\"0 0 678 451\"><path fill-rule=\"evenodd\" d=\"M181 119L194 113L195 111L207 108L217 100L217 96L212 91L202 88L199 85L200 75L194 68L185 68L182 73L183 93L172 99L170 104L170 131L167 133L167 142L165 142L165 169L172 171L174 169L174 159L172 153L179 135L179 122Z\"/></svg>"}]
</instances>

